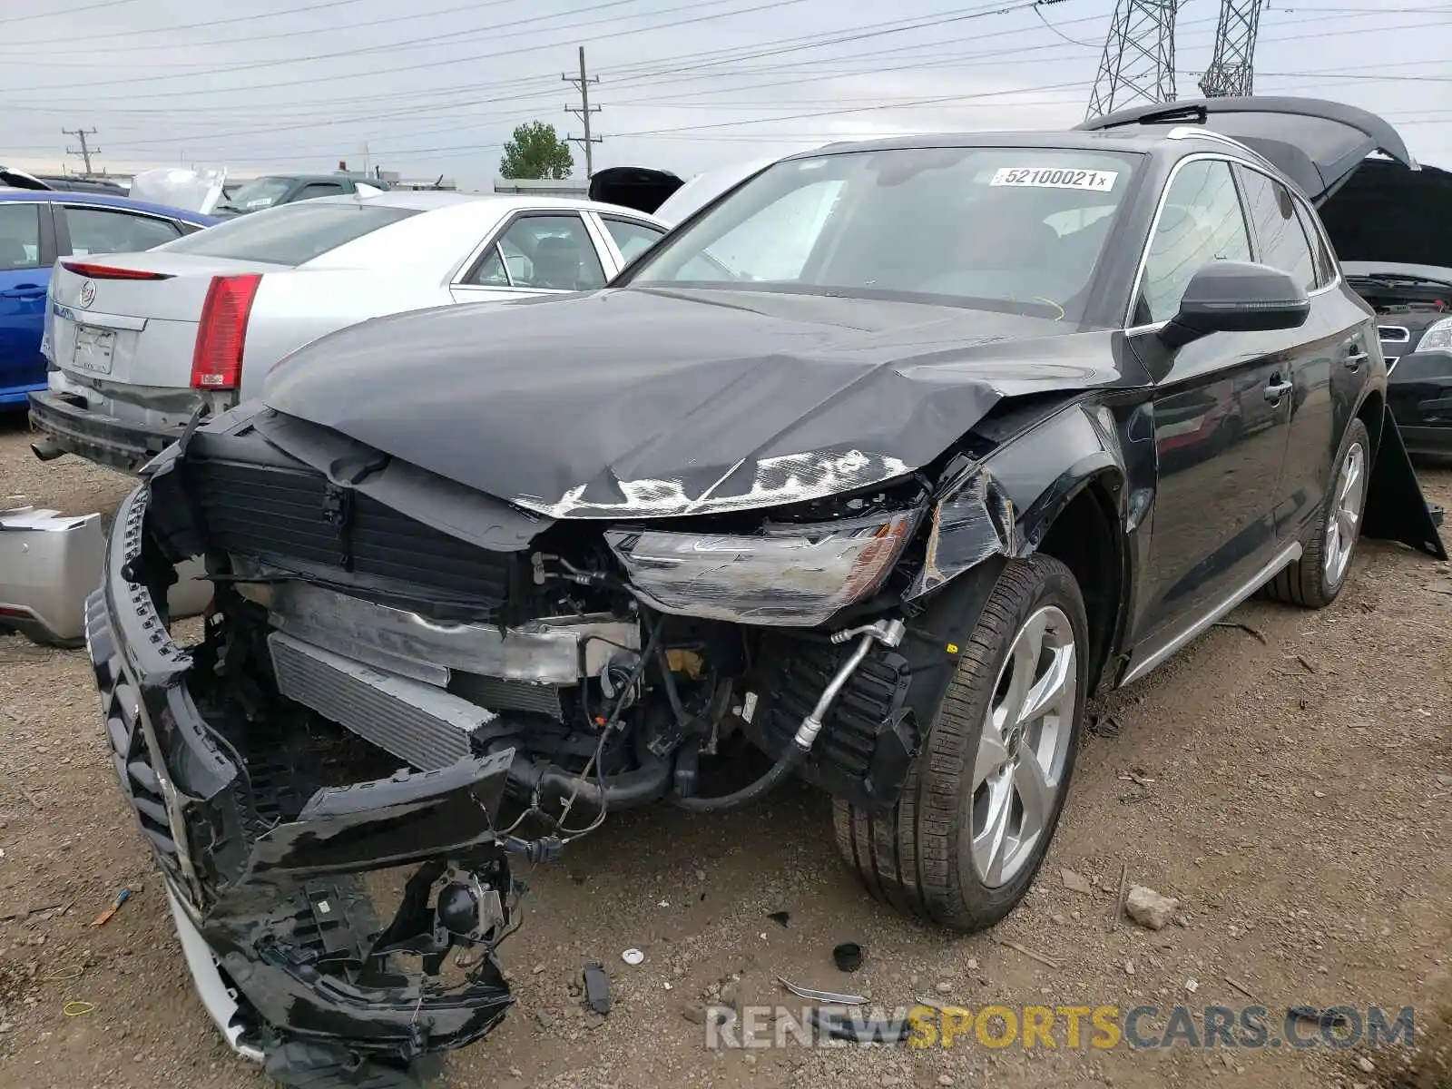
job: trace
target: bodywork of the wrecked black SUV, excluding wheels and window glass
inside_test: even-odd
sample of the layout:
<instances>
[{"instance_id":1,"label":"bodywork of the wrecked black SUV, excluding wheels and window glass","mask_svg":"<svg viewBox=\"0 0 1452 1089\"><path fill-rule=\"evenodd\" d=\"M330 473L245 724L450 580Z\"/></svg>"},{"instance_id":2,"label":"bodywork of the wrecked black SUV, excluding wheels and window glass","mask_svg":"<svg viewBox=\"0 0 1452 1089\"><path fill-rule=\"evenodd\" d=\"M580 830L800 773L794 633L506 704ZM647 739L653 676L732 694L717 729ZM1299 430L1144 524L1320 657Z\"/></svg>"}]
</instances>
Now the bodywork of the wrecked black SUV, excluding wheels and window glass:
<instances>
[{"instance_id":1,"label":"bodywork of the wrecked black SUV, excluding wheels and window glass","mask_svg":"<svg viewBox=\"0 0 1452 1089\"><path fill-rule=\"evenodd\" d=\"M488 1031L508 857L550 860L608 812L730 807L786 774L890 812L1016 560L1070 569L1089 688L1125 684L1295 560L1353 420L1376 449L1363 533L1446 556L1371 308L1329 256L1307 245L1302 287L1243 221L1241 260L1131 324L1182 164L1233 193L1260 173L1314 224L1273 167L1121 129L815 154L928 148L932 168L980 147L1135 157L1077 298L636 283L693 216L601 292L315 341L148 465L91 658L128 799L270 1067ZM193 556L215 598L183 650L152 603ZM703 787L762 752L752 786ZM357 878L398 864L379 926ZM475 974L441 989L454 947ZM388 967L401 953L423 973Z\"/></svg>"}]
</instances>

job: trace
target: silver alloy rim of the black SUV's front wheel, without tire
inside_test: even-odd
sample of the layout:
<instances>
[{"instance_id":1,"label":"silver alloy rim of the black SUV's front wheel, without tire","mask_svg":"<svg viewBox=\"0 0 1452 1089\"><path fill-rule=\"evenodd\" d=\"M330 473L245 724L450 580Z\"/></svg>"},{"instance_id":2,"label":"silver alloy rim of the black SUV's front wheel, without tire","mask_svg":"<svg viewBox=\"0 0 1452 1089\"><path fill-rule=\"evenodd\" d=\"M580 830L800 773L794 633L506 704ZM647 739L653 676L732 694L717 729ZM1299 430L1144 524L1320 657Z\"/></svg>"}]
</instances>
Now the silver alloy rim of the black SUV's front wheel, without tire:
<instances>
[{"instance_id":1,"label":"silver alloy rim of the black SUV's front wheel, without tire","mask_svg":"<svg viewBox=\"0 0 1452 1089\"><path fill-rule=\"evenodd\" d=\"M1012 881L1034 858L1054 813L1077 687L1073 624L1063 610L1044 605L1013 636L973 765L970 851L989 889Z\"/></svg>"}]
</instances>

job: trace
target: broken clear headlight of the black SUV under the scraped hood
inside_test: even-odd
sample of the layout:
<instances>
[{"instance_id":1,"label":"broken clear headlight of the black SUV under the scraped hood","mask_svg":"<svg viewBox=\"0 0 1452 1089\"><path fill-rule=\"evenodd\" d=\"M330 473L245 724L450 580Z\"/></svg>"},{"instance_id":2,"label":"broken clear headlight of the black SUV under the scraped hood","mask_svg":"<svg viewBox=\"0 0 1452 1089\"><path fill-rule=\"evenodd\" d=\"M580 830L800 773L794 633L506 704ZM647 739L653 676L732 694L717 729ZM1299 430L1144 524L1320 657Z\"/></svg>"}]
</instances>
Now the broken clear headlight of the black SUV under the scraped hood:
<instances>
[{"instance_id":1,"label":"broken clear headlight of the black SUV under the scraped hood","mask_svg":"<svg viewBox=\"0 0 1452 1089\"><path fill-rule=\"evenodd\" d=\"M752 536L611 530L605 540L662 613L812 627L881 587L916 521L768 524Z\"/></svg>"}]
</instances>

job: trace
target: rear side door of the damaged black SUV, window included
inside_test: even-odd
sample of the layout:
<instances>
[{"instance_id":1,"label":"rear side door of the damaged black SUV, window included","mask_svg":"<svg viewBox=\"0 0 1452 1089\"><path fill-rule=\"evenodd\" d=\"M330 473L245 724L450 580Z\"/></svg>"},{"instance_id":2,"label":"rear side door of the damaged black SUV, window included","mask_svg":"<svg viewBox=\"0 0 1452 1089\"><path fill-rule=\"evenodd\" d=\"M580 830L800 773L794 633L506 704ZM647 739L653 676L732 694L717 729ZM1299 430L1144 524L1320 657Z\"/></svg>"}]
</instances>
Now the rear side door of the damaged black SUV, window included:
<instances>
[{"instance_id":1,"label":"rear side door of the damaged black SUV, window included","mask_svg":"<svg viewBox=\"0 0 1452 1089\"><path fill-rule=\"evenodd\" d=\"M1244 195L1256 260L1289 273L1311 299L1305 325L1286 337L1291 421L1276 495L1276 529L1284 540L1295 540L1304 536L1326 498L1340 436L1355 411L1361 382L1371 370L1369 353L1378 347L1375 322L1334 290L1327 258L1317 253L1321 238L1314 213L1304 202L1260 170L1239 166L1236 177Z\"/></svg>"}]
</instances>

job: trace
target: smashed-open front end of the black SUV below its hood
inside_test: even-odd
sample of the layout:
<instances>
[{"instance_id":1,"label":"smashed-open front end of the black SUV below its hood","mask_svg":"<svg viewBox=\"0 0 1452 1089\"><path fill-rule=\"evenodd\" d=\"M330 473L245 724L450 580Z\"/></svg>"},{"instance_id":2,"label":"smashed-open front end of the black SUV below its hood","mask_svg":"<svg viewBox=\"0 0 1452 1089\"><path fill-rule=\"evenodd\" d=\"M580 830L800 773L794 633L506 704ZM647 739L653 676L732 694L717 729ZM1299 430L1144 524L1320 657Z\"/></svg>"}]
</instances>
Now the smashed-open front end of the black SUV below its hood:
<instances>
[{"instance_id":1,"label":"smashed-open front end of the black SUV below its hood","mask_svg":"<svg viewBox=\"0 0 1452 1089\"><path fill-rule=\"evenodd\" d=\"M739 624L669 611L693 594L710 613L730 566L729 547L666 562L677 520L529 515L492 550L335 488L346 472L250 424L189 434L123 507L87 608L118 772L179 931L200 939L199 990L216 976L224 1034L285 1082L412 1070L488 1032L511 1003L495 960L524 893L510 861L550 861L614 810L727 809L794 774L892 806L919 736L905 623L883 604L1012 537L1012 513L1005 537L970 488L945 508L957 536L899 563L928 510L918 479L777 507L765 547L807 547L783 560L823 590L738 581L733 607L767 617ZM685 526L725 543L762 518ZM189 556L213 600L183 649L154 603ZM129 601L142 630L118 639L106 595L123 587L147 592ZM158 661L132 662L136 646ZM389 921L369 873L405 865Z\"/></svg>"}]
</instances>

